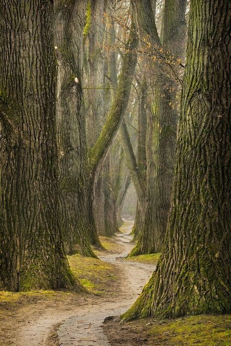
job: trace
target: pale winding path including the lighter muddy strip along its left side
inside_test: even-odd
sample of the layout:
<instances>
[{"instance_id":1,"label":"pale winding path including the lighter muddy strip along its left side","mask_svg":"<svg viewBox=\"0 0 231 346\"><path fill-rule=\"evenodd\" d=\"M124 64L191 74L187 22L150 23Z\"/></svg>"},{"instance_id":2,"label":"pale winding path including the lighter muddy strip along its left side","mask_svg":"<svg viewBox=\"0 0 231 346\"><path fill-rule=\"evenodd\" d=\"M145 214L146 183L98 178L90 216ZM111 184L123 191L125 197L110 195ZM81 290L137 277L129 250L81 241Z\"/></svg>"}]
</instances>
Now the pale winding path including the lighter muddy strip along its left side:
<instances>
[{"instance_id":1,"label":"pale winding path including the lighter muddy strip along its left side","mask_svg":"<svg viewBox=\"0 0 231 346\"><path fill-rule=\"evenodd\" d=\"M113 263L118 270L119 282L111 297L81 297L78 302L66 302L54 309L37 311L31 321L24 321L9 345L14 346L108 346L102 322L107 316L119 315L135 301L149 277L154 265L124 261L131 251L130 232L116 235L116 243L123 251L105 253L99 258ZM58 308L58 309L57 309ZM53 342L54 340L54 342Z\"/></svg>"}]
</instances>

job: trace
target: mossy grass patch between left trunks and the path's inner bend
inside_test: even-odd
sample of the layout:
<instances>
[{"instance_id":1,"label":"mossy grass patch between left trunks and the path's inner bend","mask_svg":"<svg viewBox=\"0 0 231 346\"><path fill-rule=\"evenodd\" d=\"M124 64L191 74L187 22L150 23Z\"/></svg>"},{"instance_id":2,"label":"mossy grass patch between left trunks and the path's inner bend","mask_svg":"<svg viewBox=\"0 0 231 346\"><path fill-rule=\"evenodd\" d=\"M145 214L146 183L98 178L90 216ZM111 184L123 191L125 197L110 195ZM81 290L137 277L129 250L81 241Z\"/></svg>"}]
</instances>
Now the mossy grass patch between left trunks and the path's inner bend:
<instances>
[{"instance_id":1,"label":"mossy grass patch between left trunks and the path's inner bend","mask_svg":"<svg viewBox=\"0 0 231 346\"><path fill-rule=\"evenodd\" d=\"M106 293L116 279L115 266L100 259L71 255L68 261L81 284L94 294Z\"/></svg>"}]
</instances>

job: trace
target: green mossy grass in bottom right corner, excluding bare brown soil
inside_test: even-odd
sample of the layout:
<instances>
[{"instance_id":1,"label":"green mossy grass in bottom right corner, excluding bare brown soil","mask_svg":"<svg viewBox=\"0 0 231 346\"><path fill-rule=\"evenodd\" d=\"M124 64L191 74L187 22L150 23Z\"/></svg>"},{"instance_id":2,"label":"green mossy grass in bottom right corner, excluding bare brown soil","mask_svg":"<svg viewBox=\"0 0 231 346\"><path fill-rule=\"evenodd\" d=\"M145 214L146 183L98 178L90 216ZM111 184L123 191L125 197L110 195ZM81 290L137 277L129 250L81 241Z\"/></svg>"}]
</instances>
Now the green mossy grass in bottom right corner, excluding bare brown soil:
<instances>
[{"instance_id":1,"label":"green mossy grass in bottom right corner, excluding bare brown soil","mask_svg":"<svg viewBox=\"0 0 231 346\"><path fill-rule=\"evenodd\" d=\"M149 330L156 345L230 346L231 315L199 315L162 321ZM161 344L160 344L161 342Z\"/></svg>"}]
</instances>

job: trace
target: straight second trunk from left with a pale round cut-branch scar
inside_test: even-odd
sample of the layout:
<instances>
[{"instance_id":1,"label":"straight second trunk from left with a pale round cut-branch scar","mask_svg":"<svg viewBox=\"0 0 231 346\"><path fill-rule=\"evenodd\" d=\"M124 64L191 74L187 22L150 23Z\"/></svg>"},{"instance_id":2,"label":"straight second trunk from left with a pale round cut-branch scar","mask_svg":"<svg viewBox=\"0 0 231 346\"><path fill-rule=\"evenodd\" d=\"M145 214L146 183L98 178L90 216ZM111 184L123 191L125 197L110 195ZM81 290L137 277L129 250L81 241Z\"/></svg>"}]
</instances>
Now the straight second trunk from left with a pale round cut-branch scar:
<instances>
[{"instance_id":1,"label":"straight second trunk from left with a pale round cut-branch scar","mask_svg":"<svg viewBox=\"0 0 231 346\"><path fill-rule=\"evenodd\" d=\"M83 219L86 174L82 162L86 161L86 131L82 107L82 39L85 12L85 1L55 1L60 215L66 252L95 256Z\"/></svg>"}]
</instances>

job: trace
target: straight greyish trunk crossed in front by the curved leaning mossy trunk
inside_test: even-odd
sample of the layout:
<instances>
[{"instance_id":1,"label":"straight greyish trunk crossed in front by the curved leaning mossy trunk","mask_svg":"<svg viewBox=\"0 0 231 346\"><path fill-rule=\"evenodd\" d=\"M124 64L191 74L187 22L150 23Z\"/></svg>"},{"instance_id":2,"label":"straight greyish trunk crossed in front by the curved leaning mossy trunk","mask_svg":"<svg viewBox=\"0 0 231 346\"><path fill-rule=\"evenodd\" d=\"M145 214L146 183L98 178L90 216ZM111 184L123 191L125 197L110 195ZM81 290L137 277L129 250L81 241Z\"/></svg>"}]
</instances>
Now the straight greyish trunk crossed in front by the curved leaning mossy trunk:
<instances>
[{"instance_id":1,"label":"straight greyish trunk crossed in front by the curved leaning mossy trunk","mask_svg":"<svg viewBox=\"0 0 231 346\"><path fill-rule=\"evenodd\" d=\"M91 0L91 21L88 32L88 89L87 101L87 144L90 148L96 143L103 123L106 119L106 112L112 105L113 99L110 97L110 85L105 75L108 75L108 63L104 53L104 41L111 40L108 30L111 31L111 24L102 20L103 13L111 11L111 1ZM110 20L109 20L110 21ZM106 31L105 31L106 26ZM109 36L109 37L108 37ZM87 43L89 43L87 45ZM117 78L117 76L116 76ZM108 88L108 89L107 89ZM114 196L112 190L112 178L110 172L110 152L105 161L98 166L94 180L93 209L96 223L96 230L99 235L112 236L116 231L114 218Z\"/></svg>"}]
</instances>

